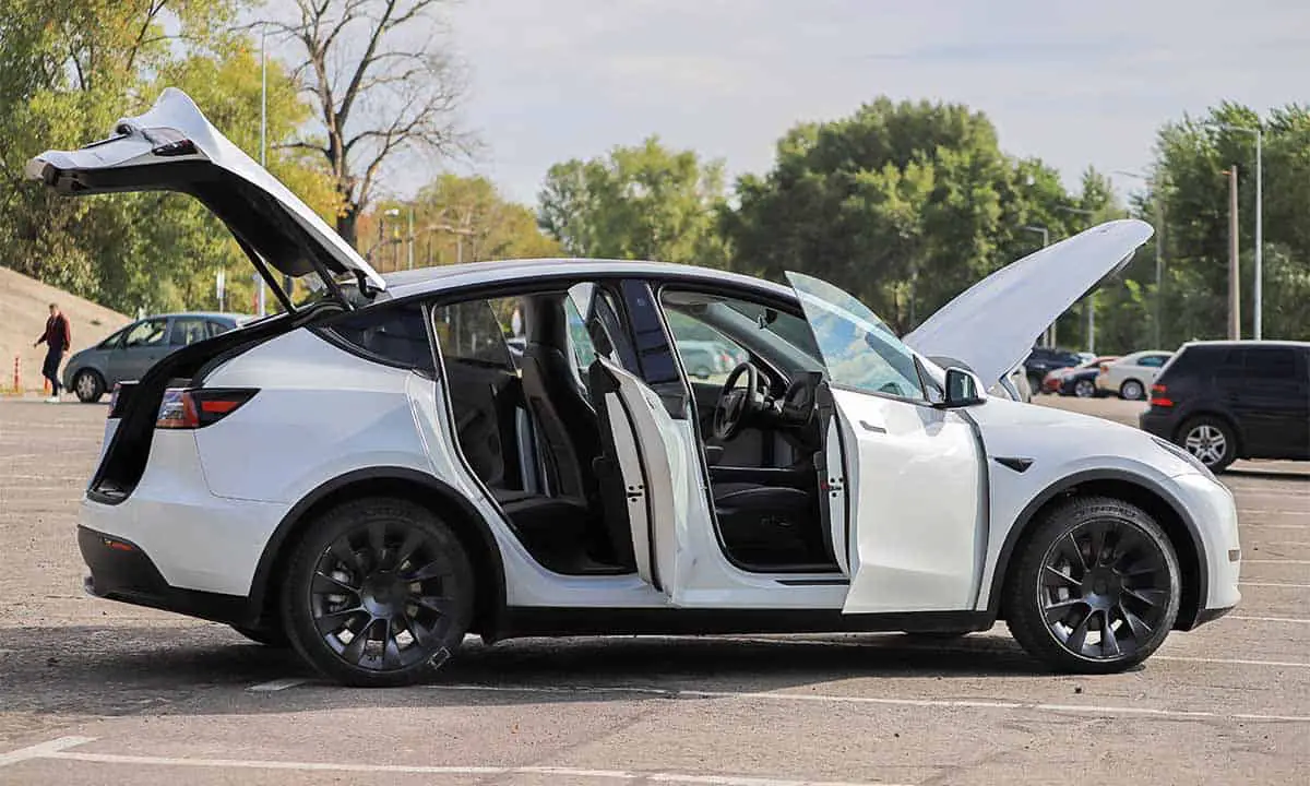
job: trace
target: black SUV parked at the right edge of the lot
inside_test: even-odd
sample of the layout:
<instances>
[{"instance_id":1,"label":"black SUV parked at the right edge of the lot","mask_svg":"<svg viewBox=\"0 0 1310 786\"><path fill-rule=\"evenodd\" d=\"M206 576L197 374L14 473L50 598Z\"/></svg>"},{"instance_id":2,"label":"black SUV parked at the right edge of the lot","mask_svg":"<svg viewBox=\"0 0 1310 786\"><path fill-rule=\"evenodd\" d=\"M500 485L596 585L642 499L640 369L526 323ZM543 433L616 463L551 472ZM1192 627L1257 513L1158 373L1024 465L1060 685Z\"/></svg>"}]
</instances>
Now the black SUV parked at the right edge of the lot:
<instances>
[{"instance_id":1,"label":"black SUV parked at the right edge of the lot","mask_svg":"<svg viewBox=\"0 0 1310 786\"><path fill-rule=\"evenodd\" d=\"M1237 458L1310 458L1310 343L1186 343L1151 385L1141 427L1216 472Z\"/></svg>"}]
</instances>

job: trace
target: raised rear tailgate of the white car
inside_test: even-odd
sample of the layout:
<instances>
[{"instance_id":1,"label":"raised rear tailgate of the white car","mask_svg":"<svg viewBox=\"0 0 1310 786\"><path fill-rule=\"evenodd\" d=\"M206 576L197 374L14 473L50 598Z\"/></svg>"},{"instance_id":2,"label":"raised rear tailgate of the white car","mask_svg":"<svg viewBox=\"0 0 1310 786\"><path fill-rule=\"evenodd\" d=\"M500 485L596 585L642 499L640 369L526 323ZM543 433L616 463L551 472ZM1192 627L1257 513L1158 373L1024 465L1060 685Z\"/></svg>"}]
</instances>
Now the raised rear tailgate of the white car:
<instances>
[{"instance_id":1,"label":"raised rear tailgate of the white car","mask_svg":"<svg viewBox=\"0 0 1310 786\"><path fill-rule=\"evenodd\" d=\"M228 225L284 303L263 265L290 276L317 272L330 287L333 275L351 274L362 287L386 288L350 244L176 88L164 90L145 114L118 121L109 139L77 151L46 151L25 172L69 195L191 194Z\"/></svg>"}]
</instances>

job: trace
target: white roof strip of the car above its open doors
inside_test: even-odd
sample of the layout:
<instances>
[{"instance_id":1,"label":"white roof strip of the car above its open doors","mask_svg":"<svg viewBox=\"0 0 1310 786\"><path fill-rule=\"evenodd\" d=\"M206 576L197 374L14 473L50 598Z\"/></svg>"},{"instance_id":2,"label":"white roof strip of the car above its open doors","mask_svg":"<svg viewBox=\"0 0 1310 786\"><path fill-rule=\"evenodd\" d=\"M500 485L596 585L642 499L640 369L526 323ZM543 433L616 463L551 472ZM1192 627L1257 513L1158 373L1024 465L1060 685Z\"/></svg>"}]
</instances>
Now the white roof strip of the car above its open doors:
<instances>
[{"instance_id":1,"label":"white roof strip of the car above its open doors","mask_svg":"<svg viewBox=\"0 0 1310 786\"><path fill-rule=\"evenodd\" d=\"M495 262L465 262L462 265L443 265L385 274L386 291L379 297L401 299L477 287L481 284L540 280L542 278L659 278L679 280L688 284L720 284L751 288L774 297L795 300L791 287L776 284L736 272L673 265L669 262L646 262L633 259L502 259Z\"/></svg>"}]
</instances>

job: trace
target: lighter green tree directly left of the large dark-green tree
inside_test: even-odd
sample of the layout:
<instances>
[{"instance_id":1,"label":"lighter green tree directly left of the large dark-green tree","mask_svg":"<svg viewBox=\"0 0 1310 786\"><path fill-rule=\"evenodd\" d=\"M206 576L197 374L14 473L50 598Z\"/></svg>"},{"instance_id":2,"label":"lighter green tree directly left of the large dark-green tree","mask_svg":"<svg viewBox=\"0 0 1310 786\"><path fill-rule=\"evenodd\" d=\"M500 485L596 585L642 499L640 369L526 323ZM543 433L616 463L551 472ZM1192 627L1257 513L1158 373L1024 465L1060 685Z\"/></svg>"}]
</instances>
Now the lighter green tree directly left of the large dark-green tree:
<instances>
[{"instance_id":1,"label":"lighter green tree directly left of the large dark-green tree","mask_svg":"<svg viewBox=\"0 0 1310 786\"><path fill-rule=\"evenodd\" d=\"M555 164L538 220L578 257L722 266L723 165L651 136L608 156Z\"/></svg>"}]
</instances>

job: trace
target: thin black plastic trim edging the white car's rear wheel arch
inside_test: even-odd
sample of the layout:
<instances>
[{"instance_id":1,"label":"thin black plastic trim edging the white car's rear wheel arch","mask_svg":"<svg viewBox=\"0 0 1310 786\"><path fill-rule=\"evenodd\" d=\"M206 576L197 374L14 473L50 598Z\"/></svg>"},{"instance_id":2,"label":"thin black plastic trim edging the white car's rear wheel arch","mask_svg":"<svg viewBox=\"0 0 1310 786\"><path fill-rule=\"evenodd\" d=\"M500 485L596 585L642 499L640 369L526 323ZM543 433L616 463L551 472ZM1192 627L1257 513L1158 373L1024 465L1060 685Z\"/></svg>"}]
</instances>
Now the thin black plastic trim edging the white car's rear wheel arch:
<instances>
[{"instance_id":1,"label":"thin black plastic trim edging the white car's rear wheel arch","mask_svg":"<svg viewBox=\"0 0 1310 786\"><path fill-rule=\"evenodd\" d=\"M287 546L287 537L296 528L296 524L300 523L301 517L304 517L304 515L318 502L341 489L355 483L377 481L401 481L422 487L432 494L438 494L444 502L455 504L476 527L482 537L483 548L486 548L487 553L491 555L491 567L495 574L493 576L493 600L491 605L487 607L487 610L491 613L491 618L483 621L486 625L494 627L502 609L504 608L504 562L500 558L500 546L496 544L495 536L491 534L491 531L482 515L468 502L468 499L464 498L462 494L434 476L405 466L369 466L367 469L356 469L354 472L337 476L304 495L300 502L287 511L287 515L282 517L282 521L278 523L278 527L272 531L272 534L265 544L263 554L259 555L259 563L255 566L254 579L250 582L250 603L253 608L257 612L263 610L270 587L275 582L275 576L272 576L272 567L278 563L278 557L280 555L283 548ZM274 591L276 590L274 588Z\"/></svg>"}]
</instances>

